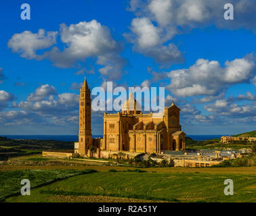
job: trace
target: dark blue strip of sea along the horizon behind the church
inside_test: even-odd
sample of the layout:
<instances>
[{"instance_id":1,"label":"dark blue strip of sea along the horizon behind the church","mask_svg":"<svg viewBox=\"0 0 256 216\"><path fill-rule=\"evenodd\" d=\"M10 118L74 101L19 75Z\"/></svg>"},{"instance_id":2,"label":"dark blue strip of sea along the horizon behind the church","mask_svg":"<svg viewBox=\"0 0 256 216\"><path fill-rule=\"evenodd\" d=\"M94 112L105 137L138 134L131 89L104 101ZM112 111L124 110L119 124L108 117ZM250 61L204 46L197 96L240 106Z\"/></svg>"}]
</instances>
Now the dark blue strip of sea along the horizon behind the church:
<instances>
[{"instance_id":1,"label":"dark blue strip of sea along the horizon behind the church","mask_svg":"<svg viewBox=\"0 0 256 216\"><path fill-rule=\"evenodd\" d=\"M77 135L0 135L12 139L30 139L30 140L58 140L58 141L69 141L77 142ZM227 135L186 135L192 138L193 140L202 141L202 140L211 140L214 138L221 138L221 136ZM102 138L102 135L92 135L93 138Z\"/></svg>"}]
</instances>

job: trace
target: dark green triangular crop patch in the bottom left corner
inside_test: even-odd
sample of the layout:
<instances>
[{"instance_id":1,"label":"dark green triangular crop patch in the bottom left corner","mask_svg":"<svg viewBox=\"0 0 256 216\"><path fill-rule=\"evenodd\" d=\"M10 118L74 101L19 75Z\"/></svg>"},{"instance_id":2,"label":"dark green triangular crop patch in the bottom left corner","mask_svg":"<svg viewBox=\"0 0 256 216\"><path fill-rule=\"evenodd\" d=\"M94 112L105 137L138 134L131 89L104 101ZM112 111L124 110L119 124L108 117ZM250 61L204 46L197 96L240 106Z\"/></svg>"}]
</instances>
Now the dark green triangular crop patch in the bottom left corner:
<instances>
[{"instance_id":1,"label":"dark green triangular crop patch in the bottom left corner","mask_svg":"<svg viewBox=\"0 0 256 216\"><path fill-rule=\"evenodd\" d=\"M24 169L15 171L0 171L0 201L6 197L20 194L21 180L30 180L31 188L36 188L45 184L50 184L70 176L87 173L89 170L74 169Z\"/></svg>"}]
</instances>

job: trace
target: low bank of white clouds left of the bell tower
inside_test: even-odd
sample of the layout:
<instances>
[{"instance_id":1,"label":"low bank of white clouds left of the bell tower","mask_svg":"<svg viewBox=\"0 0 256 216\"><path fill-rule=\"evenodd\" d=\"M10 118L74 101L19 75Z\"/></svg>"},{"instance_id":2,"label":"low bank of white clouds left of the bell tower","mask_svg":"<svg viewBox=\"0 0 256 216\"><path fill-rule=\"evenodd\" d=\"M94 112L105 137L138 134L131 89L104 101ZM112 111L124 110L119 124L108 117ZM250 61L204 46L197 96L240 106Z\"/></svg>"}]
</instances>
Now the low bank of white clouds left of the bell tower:
<instances>
[{"instance_id":1,"label":"low bank of white clouds left of the bell tower","mask_svg":"<svg viewBox=\"0 0 256 216\"><path fill-rule=\"evenodd\" d=\"M14 95L0 90L0 110L8 107ZM26 101L12 102L11 111L0 111L1 126L34 125L74 126L79 122L79 94L58 94L54 86L45 84L31 93Z\"/></svg>"}]
</instances>

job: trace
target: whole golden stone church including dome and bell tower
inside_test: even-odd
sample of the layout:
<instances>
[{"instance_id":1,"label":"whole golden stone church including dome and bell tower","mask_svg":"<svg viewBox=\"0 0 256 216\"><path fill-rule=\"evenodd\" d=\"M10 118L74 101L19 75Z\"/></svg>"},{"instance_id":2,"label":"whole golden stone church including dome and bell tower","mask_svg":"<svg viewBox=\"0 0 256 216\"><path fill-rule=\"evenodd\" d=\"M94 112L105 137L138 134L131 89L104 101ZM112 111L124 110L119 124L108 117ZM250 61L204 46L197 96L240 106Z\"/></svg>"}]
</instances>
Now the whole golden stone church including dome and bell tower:
<instances>
[{"instance_id":1,"label":"whole golden stone church including dome and bell tower","mask_svg":"<svg viewBox=\"0 0 256 216\"><path fill-rule=\"evenodd\" d=\"M163 115L142 113L133 93L122 105L119 113L104 113L102 139L91 138L91 94L87 81L80 90L79 142L75 153L87 155L89 146L100 151L127 151L140 153L163 153L185 150L185 136L179 124L179 107L174 103L165 107Z\"/></svg>"}]
</instances>

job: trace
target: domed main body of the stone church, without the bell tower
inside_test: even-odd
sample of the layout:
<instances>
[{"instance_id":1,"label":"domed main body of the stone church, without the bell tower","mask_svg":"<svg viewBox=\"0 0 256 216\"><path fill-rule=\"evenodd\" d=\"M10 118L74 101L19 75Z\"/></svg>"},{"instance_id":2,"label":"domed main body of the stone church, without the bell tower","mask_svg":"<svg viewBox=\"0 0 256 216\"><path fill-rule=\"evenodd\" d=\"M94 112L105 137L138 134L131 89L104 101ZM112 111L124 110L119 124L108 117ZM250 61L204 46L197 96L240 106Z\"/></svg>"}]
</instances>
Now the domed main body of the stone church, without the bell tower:
<instances>
[{"instance_id":1,"label":"domed main body of the stone church, without the bell tower","mask_svg":"<svg viewBox=\"0 0 256 216\"><path fill-rule=\"evenodd\" d=\"M163 115L143 114L138 107L131 93L122 112L104 114L102 150L140 153L185 150L186 134L179 124L180 109L174 103L165 108Z\"/></svg>"}]
</instances>

